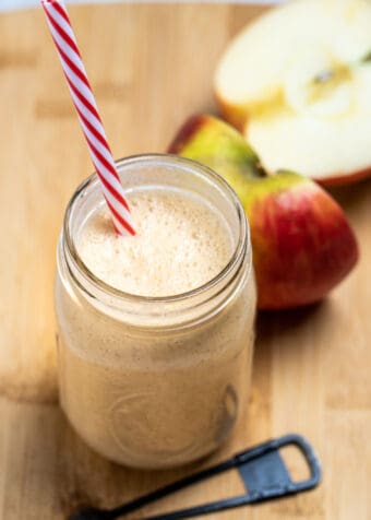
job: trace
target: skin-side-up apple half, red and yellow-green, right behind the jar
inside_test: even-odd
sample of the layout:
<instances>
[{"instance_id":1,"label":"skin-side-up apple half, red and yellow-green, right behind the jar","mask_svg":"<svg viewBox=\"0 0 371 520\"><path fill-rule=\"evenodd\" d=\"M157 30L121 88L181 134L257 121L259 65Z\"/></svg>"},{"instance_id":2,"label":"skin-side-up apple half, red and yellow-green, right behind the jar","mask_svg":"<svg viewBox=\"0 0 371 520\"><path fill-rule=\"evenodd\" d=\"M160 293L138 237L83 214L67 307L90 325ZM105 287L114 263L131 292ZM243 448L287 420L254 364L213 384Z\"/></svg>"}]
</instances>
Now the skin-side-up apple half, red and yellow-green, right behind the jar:
<instances>
[{"instance_id":1,"label":"skin-side-up apple half, red and yellow-green, right behind the jar","mask_svg":"<svg viewBox=\"0 0 371 520\"><path fill-rule=\"evenodd\" d=\"M192 117L168 152L211 167L240 198L250 223L259 308L319 302L356 264L356 237L340 206L309 178L286 170L268 175L224 121Z\"/></svg>"}]
</instances>

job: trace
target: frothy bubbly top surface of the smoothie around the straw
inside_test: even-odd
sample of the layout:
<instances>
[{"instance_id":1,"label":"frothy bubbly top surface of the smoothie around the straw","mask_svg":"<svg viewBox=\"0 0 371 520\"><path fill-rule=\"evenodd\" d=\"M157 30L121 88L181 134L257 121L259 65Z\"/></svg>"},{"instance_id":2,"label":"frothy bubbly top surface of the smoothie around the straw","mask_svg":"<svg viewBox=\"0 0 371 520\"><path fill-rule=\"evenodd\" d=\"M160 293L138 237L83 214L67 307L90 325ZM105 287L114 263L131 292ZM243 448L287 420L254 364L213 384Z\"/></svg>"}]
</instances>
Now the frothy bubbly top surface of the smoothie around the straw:
<instances>
[{"instance_id":1,"label":"frothy bubbly top surface of the smoothie around the straw","mask_svg":"<svg viewBox=\"0 0 371 520\"><path fill-rule=\"evenodd\" d=\"M134 237L115 234L106 206L80 232L79 253L98 279L131 294L170 296L200 287L227 265L232 255L227 223L198 196L152 187L128 199Z\"/></svg>"}]
</instances>

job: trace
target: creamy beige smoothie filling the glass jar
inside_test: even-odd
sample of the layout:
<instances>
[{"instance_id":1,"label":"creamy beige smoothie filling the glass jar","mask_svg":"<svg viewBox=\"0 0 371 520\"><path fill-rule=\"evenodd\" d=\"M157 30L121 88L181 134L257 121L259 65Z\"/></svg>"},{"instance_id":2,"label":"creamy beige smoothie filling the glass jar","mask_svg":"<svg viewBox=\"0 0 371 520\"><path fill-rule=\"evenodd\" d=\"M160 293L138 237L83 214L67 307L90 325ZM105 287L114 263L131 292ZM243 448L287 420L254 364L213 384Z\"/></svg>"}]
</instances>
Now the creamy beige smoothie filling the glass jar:
<instances>
[{"instance_id":1,"label":"creamy beige smoothie filling the glass jar","mask_svg":"<svg viewBox=\"0 0 371 520\"><path fill-rule=\"evenodd\" d=\"M230 224L202 197L178 188L141 188L128 199L136 235L115 235L100 204L81 222L76 251L99 281L142 297L133 300L136 318L152 306L151 327L145 318L131 320L130 305L122 318L109 302L103 311L97 298L86 302L57 282L61 403L105 457L142 468L177 465L216 449L243 412L254 285L241 276L223 305L215 307L222 296L214 291L171 324L175 304L156 298L198 289L223 272L236 248Z\"/></svg>"}]
</instances>

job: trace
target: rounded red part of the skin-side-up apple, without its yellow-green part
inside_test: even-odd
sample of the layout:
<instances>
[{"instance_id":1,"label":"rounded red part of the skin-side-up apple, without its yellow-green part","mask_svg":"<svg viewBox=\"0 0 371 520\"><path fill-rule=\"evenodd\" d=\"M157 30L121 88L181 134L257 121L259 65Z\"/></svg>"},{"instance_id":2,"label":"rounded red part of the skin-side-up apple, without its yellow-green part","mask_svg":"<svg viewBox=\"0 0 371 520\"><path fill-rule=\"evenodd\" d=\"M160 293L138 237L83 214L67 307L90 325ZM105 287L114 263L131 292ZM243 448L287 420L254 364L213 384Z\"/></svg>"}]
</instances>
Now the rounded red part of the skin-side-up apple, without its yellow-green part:
<instances>
[{"instance_id":1,"label":"rounded red part of the skin-side-up apple, without its yellow-green part","mask_svg":"<svg viewBox=\"0 0 371 520\"><path fill-rule=\"evenodd\" d=\"M319 187L267 194L249 215L261 309L319 302L358 260L342 209Z\"/></svg>"}]
</instances>

